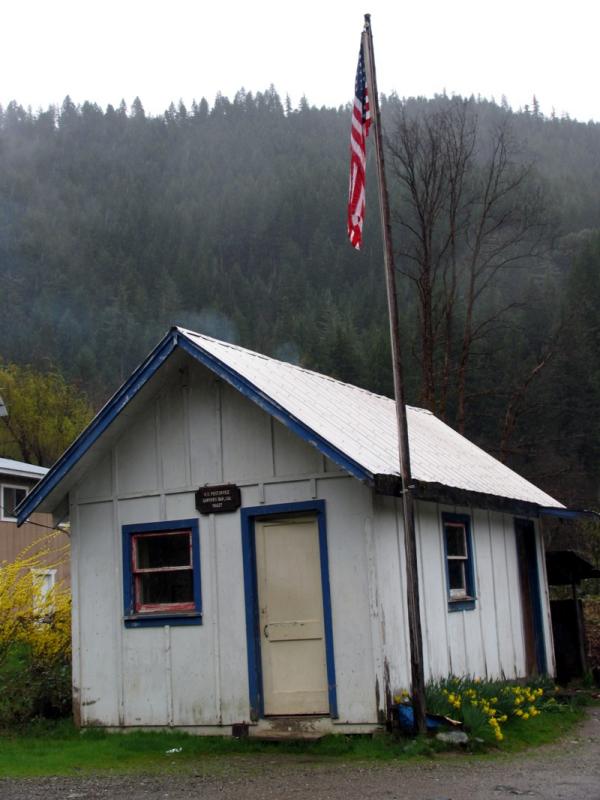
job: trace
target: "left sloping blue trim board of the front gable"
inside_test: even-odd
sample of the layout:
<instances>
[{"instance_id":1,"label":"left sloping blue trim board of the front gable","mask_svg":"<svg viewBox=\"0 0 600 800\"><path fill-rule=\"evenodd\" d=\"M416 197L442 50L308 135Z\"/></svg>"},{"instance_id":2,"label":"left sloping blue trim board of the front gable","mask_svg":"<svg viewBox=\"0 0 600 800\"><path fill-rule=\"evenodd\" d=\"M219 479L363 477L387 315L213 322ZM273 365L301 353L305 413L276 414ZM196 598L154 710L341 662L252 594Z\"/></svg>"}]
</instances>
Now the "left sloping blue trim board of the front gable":
<instances>
[{"instance_id":1,"label":"left sloping blue trim board of the front gable","mask_svg":"<svg viewBox=\"0 0 600 800\"><path fill-rule=\"evenodd\" d=\"M22 525L50 492L56 488L79 459L100 438L115 417L121 413L129 401L135 397L159 367L167 360L176 346L177 332L175 329L172 329L164 339L158 343L146 360L133 372L131 377L125 381L117 392L115 392L98 414L96 414L94 419L77 439L75 439L73 444L65 450L47 475L36 484L35 488L23 500L21 505L17 508L17 525Z\"/></svg>"}]
</instances>

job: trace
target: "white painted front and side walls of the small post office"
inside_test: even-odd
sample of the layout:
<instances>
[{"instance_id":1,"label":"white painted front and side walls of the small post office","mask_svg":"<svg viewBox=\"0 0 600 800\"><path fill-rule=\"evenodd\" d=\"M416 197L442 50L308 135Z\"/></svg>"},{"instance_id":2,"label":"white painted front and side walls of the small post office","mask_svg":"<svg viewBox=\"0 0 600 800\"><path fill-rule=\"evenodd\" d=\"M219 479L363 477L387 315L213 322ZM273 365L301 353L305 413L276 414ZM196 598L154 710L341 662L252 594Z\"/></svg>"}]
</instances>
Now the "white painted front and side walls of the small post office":
<instances>
[{"instance_id":1,"label":"white painted front and side walls of the small post office","mask_svg":"<svg viewBox=\"0 0 600 800\"><path fill-rule=\"evenodd\" d=\"M221 482L240 485L242 506L325 500L339 722L376 722L386 687L409 683L396 501L374 496L191 361L71 493L73 680L82 722L249 720L240 515L199 516L194 506L199 485ZM477 607L449 614L443 510L468 513L418 504L427 674L522 674L512 518L472 513ZM122 526L190 517L199 517L203 624L126 629Z\"/></svg>"}]
</instances>

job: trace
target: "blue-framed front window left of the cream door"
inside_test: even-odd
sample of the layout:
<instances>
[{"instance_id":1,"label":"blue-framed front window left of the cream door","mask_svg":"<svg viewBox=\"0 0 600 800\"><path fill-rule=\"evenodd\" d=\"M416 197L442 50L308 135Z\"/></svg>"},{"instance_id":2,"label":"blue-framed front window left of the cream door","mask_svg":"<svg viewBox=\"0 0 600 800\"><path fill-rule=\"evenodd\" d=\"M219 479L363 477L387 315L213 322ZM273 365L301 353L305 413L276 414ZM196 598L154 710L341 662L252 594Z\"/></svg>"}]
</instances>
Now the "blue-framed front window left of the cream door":
<instances>
[{"instance_id":1,"label":"blue-framed front window left of the cream door","mask_svg":"<svg viewBox=\"0 0 600 800\"><path fill-rule=\"evenodd\" d=\"M200 625L197 519L123 526L125 625Z\"/></svg>"}]
</instances>

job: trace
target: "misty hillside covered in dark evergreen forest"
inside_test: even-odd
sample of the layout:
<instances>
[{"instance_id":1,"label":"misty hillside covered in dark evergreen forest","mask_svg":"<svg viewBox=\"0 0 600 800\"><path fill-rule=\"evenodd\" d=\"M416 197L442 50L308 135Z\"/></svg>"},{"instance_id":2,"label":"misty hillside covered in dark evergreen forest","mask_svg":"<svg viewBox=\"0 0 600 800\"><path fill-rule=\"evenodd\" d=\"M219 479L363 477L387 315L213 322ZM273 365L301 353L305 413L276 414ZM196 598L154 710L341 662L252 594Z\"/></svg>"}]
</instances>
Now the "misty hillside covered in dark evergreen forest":
<instances>
[{"instance_id":1,"label":"misty hillside covered in dark evergreen forest","mask_svg":"<svg viewBox=\"0 0 600 800\"><path fill-rule=\"evenodd\" d=\"M467 134L476 127L477 136L463 205L439 218L428 262L419 237L411 239L419 203L403 148L416 146L415 131L434 123L442 130L449 108L462 109ZM463 425L561 499L595 504L600 125L544 118L535 104L516 113L446 97L390 97L383 114L409 402ZM293 109L273 89L171 106L160 117L147 116L137 99L105 111L68 98L60 109L1 110L0 363L56 368L98 406L169 326L181 324L390 393L372 164L363 251L345 236L349 120L348 108L303 101ZM466 327L461 265L476 229L466 216L485 205L484 195L469 193L485 189L498 130L508 142L506 185L514 175L526 180L518 198L514 187L499 193L487 252L499 241L500 218L501 230L519 238L503 240L508 256L497 269L481 262L488 271L480 277L489 280ZM417 153L421 165L431 152ZM444 169L440 185L451 198L453 173ZM438 208L451 205L446 198ZM533 220L527 236L519 227L525 217ZM448 236L453 224L457 237ZM450 249L440 244L446 239ZM429 359L437 383L429 393L415 263L432 265L437 281Z\"/></svg>"}]
</instances>

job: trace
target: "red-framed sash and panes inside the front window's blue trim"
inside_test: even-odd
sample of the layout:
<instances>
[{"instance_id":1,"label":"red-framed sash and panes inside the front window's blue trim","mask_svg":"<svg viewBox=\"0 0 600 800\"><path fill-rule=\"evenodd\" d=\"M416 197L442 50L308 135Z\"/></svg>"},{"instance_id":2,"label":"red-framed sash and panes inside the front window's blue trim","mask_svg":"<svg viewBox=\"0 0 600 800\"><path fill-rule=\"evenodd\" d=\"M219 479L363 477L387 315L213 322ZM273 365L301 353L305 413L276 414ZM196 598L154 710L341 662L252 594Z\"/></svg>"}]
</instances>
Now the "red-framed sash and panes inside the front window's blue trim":
<instances>
[{"instance_id":1,"label":"red-framed sash and panes inside the front window's blue trim","mask_svg":"<svg viewBox=\"0 0 600 800\"><path fill-rule=\"evenodd\" d=\"M134 610L193 611L191 530L136 533L131 544Z\"/></svg>"}]
</instances>

